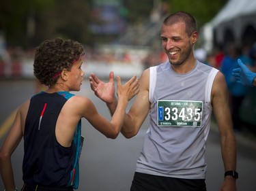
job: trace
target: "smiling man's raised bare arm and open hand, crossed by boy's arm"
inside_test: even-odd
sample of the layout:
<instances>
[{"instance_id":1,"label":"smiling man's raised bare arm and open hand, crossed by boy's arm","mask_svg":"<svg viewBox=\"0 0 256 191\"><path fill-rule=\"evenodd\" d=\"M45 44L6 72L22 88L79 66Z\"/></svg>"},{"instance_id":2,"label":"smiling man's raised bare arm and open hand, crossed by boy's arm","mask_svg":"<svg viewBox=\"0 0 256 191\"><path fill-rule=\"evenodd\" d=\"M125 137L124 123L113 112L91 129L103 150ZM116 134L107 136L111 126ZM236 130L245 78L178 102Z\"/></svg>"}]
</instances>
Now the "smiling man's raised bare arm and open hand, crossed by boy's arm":
<instances>
[{"instance_id":1,"label":"smiling man's raised bare arm and open hand, crossed by boy's arm","mask_svg":"<svg viewBox=\"0 0 256 191\"><path fill-rule=\"evenodd\" d=\"M137 135L141 124L144 122L150 110L150 101L148 98L149 80L150 70L147 69L143 72L139 80L139 94L132 104L130 111L125 115L124 125L121 132L126 138ZM96 96L106 102L111 115L113 115L117 108L117 99L114 95L115 87L113 83L113 73L110 73L108 83L102 82L96 75L92 74L90 77L90 84L91 90L94 90Z\"/></svg>"}]
</instances>

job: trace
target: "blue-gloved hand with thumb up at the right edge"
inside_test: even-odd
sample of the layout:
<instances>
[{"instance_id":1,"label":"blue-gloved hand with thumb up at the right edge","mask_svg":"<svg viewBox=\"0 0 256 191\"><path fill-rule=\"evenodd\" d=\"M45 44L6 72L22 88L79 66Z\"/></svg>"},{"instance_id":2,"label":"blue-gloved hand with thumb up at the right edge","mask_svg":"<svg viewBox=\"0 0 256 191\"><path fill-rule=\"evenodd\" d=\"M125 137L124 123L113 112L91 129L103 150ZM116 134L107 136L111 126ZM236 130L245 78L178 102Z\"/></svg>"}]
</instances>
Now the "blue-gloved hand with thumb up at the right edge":
<instances>
[{"instance_id":1,"label":"blue-gloved hand with thumb up at the right edge","mask_svg":"<svg viewBox=\"0 0 256 191\"><path fill-rule=\"evenodd\" d=\"M232 75L236 77L236 82L245 86L253 86L253 80L256 73L252 72L240 59L238 59L238 68L233 69Z\"/></svg>"}]
</instances>

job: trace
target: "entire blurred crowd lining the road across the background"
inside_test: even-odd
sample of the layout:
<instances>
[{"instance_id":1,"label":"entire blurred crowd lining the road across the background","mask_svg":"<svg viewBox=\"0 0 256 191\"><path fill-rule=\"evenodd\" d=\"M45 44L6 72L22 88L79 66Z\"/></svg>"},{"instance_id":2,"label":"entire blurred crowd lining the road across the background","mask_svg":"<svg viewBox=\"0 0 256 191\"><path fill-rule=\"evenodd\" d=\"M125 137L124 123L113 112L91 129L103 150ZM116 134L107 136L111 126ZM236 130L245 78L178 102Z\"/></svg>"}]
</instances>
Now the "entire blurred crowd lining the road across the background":
<instances>
[{"instance_id":1,"label":"entire blurred crowd lining the road across the background","mask_svg":"<svg viewBox=\"0 0 256 191\"><path fill-rule=\"evenodd\" d=\"M85 48L86 62L105 63L106 65L115 63L141 64L143 68L151 67L165 62L168 58L162 50L147 50L147 54L138 55L136 52L126 52L124 50L98 50L93 48ZM28 60L33 60L34 49L23 50L21 48L9 48L0 55L0 77L22 77L22 65ZM241 119L242 103L250 90L250 87L238 84L233 77L232 70L238 67L237 60L240 58L242 62L248 66L251 71L256 72L256 44L248 46L236 46L229 44L228 46L216 46L212 52L206 52L203 48L195 50L195 57L202 63L211 65L219 69L224 75L229 90L229 100L233 118L233 128L235 131L243 131L244 121ZM35 83L35 92L44 90L40 84Z\"/></svg>"}]
</instances>

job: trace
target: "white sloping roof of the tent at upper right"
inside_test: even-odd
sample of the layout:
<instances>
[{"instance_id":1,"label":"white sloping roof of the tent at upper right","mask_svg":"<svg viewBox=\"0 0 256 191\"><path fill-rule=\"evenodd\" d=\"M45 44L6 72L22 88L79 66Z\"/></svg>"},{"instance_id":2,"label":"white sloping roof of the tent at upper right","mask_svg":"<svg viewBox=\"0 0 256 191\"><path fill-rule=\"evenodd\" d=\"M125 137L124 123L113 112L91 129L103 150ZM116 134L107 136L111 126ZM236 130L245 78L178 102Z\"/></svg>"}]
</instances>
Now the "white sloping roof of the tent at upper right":
<instances>
[{"instance_id":1,"label":"white sloping roof of the tent at upper right","mask_svg":"<svg viewBox=\"0 0 256 191\"><path fill-rule=\"evenodd\" d=\"M256 14L255 0L229 0L211 22L216 27L221 22L248 14Z\"/></svg>"}]
</instances>

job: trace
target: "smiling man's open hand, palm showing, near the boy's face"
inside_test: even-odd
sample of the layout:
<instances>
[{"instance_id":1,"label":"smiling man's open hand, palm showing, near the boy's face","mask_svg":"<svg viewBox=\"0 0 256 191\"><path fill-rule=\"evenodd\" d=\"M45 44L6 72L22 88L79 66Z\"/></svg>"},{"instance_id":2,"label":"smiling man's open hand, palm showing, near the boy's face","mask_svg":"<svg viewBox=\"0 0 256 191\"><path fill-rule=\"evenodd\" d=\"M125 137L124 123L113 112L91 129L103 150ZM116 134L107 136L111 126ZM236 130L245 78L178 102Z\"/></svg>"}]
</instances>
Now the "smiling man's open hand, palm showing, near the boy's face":
<instances>
[{"instance_id":1,"label":"smiling man's open hand, palm showing, near the boy's face","mask_svg":"<svg viewBox=\"0 0 256 191\"><path fill-rule=\"evenodd\" d=\"M115 101L115 82L114 73L111 71L109 73L109 82L102 82L94 73L89 76L89 81L91 85L91 90L94 94L100 98L105 103L113 103Z\"/></svg>"}]
</instances>

